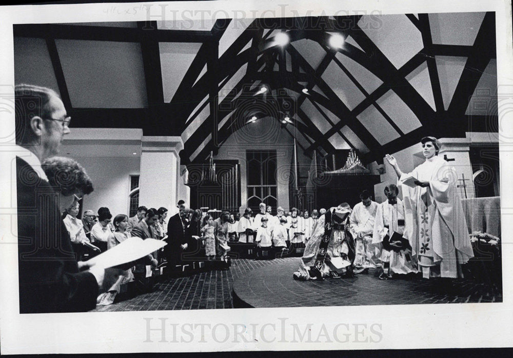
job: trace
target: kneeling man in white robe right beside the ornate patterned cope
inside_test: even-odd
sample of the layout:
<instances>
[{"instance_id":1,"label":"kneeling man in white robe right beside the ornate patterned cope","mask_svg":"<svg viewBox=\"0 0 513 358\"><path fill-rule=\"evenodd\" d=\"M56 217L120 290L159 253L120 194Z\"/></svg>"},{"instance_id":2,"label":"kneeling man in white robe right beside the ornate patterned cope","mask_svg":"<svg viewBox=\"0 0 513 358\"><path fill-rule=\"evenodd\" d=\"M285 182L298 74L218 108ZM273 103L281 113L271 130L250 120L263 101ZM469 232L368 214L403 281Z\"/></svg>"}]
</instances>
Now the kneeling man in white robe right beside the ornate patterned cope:
<instances>
[{"instance_id":1,"label":"kneeling man in white robe right beside the ornate patterned cope","mask_svg":"<svg viewBox=\"0 0 513 358\"><path fill-rule=\"evenodd\" d=\"M354 273L368 273L369 268L381 266L376 257L376 251L372 247L374 217L378 203L372 201L368 190L364 190L360 194L360 199L362 202L354 205L349 218L350 231L356 243Z\"/></svg>"}]
</instances>

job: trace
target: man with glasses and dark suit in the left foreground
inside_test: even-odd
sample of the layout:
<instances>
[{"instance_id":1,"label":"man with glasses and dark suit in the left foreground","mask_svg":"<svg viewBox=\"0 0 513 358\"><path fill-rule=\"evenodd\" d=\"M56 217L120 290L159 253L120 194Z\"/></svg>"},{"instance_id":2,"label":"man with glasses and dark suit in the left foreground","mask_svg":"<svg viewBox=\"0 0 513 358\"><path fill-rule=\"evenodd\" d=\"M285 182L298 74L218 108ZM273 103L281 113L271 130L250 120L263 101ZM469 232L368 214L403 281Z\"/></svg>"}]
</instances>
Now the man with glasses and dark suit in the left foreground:
<instances>
[{"instance_id":1,"label":"man with glasses and dark suit in the left foreground","mask_svg":"<svg viewBox=\"0 0 513 358\"><path fill-rule=\"evenodd\" d=\"M58 153L70 118L57 93L44 87L16 86L15 109L19 312L88 311L105 270L79 272L59 194L41 168L41 161Z\"/></svg>"}]
</instances>

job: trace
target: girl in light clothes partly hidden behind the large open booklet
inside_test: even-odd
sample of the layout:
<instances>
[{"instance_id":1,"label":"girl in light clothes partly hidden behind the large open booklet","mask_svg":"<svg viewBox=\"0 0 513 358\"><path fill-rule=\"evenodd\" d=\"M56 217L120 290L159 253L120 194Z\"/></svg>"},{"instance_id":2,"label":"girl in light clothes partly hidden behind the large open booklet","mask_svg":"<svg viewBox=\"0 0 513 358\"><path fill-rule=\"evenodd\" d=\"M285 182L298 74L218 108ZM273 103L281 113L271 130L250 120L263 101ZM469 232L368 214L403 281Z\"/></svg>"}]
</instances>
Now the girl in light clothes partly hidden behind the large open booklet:
<instances>
[{"instance_id":1,"label":"girl in light clothes partly hidden behind the large open booklet","mask_svg":"<svg viewBox=\"0 0 513 358\"><path fill-rule=\"evenodd\" d=\"M128 216L125 214L119 214L114 217L112 220L112 225L114 227L114 235L109 237L109 241L107 241L107 248L112 249L117 244L125 241L130 237L130 232L128 231ZM128 266L128 265L123 265ZM117 279L112 283L112 285L107 289L106 292L98 295L96 299L96 305L99 306L107 306L114 303L114 299L117 294L120 293L121 285L126 284L126 282L132 281L133 273L131 268L127 268L126 270L122 270L117 277Z\"/></svg>"}]
</instances>

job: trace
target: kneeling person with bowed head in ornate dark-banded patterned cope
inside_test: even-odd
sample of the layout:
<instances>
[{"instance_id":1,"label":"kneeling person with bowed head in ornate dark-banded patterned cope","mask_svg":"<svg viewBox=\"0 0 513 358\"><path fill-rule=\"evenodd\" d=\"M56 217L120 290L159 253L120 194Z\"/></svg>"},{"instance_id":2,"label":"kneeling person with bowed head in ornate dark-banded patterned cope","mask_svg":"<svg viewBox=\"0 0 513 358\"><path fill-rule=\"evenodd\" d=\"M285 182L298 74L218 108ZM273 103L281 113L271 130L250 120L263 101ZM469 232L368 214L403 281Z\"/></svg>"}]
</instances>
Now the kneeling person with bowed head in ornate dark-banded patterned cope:
<instances>
[{"instance_id":1,"label":"kneeling person with bowed head in ornate dark-banded patterned cope","mask_svg":"<svg viewBox=\"0 0 513 358\"><path fill-rule=\"evenodd\" d=\"M321 215L306 244L299 270L293 274L294 279L339 278L352 273L354 242L347 229L349 214L349 204L341 203Z\"/></svg>"}]
</instances>

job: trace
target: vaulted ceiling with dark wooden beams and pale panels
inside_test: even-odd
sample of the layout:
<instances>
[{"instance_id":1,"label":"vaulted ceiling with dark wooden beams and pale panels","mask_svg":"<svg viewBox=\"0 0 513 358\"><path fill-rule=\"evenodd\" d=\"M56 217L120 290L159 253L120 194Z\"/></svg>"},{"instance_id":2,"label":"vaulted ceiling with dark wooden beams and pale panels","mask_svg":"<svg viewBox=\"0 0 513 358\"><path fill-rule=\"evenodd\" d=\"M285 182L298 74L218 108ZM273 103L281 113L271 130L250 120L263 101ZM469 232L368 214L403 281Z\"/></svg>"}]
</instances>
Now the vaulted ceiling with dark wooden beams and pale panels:
<instances>
[{"instance_id":1,"label":"vaulted ceiling with dark wooden beams and pale panels","mask_svg":"<svg viewBox=\"0 0 513 358\"><path fill-rule=\"evenodd\" d=\"M426 135L497 131L491 12L15 25L14 36L16 83L58 87L72 126L182 136L182 163L253 116L288 115L307 155L355 148L364 162Z\"/></svg>"}]
</instances>

